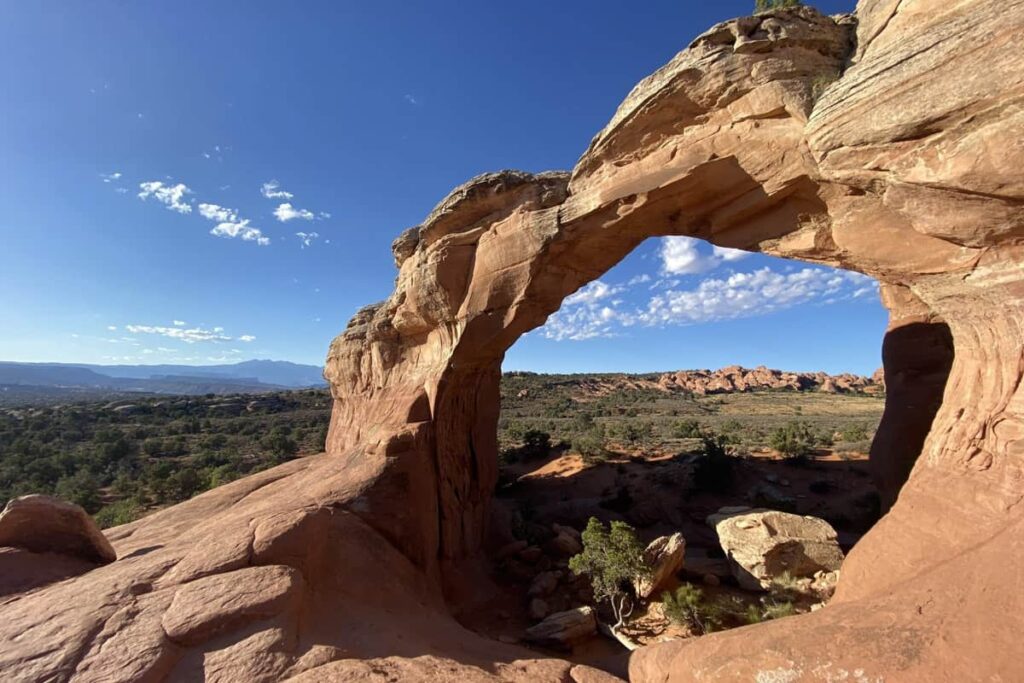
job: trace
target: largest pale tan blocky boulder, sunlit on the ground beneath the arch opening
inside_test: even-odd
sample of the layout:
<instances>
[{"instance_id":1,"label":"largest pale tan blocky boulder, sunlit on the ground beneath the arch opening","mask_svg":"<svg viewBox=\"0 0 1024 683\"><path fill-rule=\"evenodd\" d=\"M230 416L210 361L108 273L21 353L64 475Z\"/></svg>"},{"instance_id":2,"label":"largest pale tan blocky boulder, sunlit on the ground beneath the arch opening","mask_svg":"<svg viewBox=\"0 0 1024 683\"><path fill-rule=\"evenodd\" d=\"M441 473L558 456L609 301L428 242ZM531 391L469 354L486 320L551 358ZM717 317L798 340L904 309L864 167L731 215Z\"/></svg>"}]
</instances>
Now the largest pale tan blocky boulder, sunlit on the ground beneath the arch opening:
<instances>
[{"instance_id":1,"label":"largest pale tan blocky boulder, sunlit on the ground beneath the arch opening","mask_svg":"<svg viewBox=\"0 0 1024 683\"><path fill-rule=\"evenodd\" d=\"M708 517L739 585L764 590L788 573L811 578L839 569L843 551L836 529L817 517L778 510L726 507Z\"/></svg>"}]
</instances>

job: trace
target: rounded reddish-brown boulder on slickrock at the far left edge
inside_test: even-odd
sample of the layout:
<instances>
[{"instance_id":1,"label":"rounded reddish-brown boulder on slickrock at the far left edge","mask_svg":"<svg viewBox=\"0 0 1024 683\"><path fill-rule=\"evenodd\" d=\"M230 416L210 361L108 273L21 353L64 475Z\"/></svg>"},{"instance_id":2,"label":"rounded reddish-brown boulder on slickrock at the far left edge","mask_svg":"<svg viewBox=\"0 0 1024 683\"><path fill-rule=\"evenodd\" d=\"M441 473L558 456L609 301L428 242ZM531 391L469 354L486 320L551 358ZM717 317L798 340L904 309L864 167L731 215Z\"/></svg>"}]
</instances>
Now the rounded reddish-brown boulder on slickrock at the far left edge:
<instances>
[{"instance_id":1,"label":"rounded reddish-brown boulder on slickrock at the far left edge","mask_svg":"<svg viewBox=\"0 0 1024 683\"><path fill-rule=\"evenodd\" d=\"M0 513L0 547L69 555L96 564L117 559L85 510L52 496L23 496Z\"/></svg>"}]
</instances>

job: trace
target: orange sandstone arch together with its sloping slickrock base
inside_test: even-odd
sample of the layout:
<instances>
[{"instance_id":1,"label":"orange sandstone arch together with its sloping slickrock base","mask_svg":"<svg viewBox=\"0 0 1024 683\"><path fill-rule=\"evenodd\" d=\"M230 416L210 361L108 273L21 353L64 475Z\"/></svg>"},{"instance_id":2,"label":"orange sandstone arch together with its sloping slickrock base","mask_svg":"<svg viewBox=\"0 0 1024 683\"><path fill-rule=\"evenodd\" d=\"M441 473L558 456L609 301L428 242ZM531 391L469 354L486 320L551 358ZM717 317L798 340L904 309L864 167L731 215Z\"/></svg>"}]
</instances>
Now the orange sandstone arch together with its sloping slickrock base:
<instances>
[{"instance_id":1,"label":"orange sandstone arch together with its sloping slickrock base","mask_svg":"<svg viewBox=\"0 0 1024 683\"><path fill-rule=\"evenodd\" d=\"M1024 0L857 14L714 27L570 174L454 190L396 241L394 293L331 345L329 453L110 530L117 561L3 598L5 678L565 680L442 596L486 531L505 350L660 234L882 283L872 460L895 504L825 608L642 648L632 679L1024 678ZM290 568L280 610L166 631L189 582L248 595L267 567Z\"/></svg>"}]
</instances>

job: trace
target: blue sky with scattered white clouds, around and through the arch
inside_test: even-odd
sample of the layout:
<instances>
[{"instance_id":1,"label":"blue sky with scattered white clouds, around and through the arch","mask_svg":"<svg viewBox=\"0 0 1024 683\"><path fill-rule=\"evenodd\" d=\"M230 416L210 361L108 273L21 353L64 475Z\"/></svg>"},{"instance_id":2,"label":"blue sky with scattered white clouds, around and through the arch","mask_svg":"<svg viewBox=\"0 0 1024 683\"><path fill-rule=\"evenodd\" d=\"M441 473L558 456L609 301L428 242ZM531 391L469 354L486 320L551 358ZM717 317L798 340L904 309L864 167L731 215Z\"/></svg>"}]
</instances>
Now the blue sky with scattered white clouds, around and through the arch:
<instances>
[{"instance_id":1,"label":"blue sky with scattered white clouds, around and through the arch","mask_svg":"<svg viewBox=\"0 0 1024 683\"><path fill-rule=\"evenodd\" d=\"M570 168L638 80L751 4L13 3L0 358L319 364L449 189ZM804 268L648 242L506 368L870 372L877 294L808 293L829 279Z\"/></svg>"}]
</instances>

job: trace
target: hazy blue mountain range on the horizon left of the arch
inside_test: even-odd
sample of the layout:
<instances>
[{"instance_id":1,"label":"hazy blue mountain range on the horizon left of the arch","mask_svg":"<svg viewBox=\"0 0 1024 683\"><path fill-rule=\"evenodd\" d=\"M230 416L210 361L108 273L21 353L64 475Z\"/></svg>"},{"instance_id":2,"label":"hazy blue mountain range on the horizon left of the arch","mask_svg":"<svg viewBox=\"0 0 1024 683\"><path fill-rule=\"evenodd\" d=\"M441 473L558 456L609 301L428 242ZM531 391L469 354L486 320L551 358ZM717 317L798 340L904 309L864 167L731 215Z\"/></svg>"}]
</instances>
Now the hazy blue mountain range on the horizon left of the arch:
<instances>
[{"instance_id":1,"label":"hazy blue mountain range on the horizon left of the arch","mask_svg":"<svg viewBox=\"0 0 1024 683\"><path fill-rule=\"evenodd\" d=\"M0 391L89 391L174 394L258 393L326 386L323 369L287 360L222 366L93 366L0 361Z\"/></svg>"}]
</instances>

